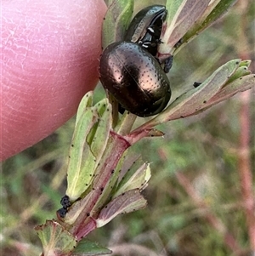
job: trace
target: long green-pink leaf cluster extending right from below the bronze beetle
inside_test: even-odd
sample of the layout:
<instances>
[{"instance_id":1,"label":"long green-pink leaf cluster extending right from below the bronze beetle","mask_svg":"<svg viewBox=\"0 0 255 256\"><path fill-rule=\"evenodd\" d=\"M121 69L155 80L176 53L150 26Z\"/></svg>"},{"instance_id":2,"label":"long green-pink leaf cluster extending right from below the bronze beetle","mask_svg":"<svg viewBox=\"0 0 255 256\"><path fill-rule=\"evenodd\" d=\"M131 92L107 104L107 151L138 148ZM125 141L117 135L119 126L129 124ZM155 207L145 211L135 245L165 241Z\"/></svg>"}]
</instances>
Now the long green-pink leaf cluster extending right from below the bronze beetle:
<instances>
[{"instance_id":1,"label":"long green-pink leaf cluster extending right from below the bronze beetle","mask_svg":"<svg viewBox=\"0 0 255 256\"><path fill-rule=\"evenodd\" d=\"M165 111L133 130L128 135L129 140L135 141L135 138L139 138L144 130L151 129L163 122L197 115L238 92L254 87L255 75L247 70L250 63L250 60L229 60L217 71L214 71L200 86L181 94L168 105Z\"/></svg>"}]
</instances>

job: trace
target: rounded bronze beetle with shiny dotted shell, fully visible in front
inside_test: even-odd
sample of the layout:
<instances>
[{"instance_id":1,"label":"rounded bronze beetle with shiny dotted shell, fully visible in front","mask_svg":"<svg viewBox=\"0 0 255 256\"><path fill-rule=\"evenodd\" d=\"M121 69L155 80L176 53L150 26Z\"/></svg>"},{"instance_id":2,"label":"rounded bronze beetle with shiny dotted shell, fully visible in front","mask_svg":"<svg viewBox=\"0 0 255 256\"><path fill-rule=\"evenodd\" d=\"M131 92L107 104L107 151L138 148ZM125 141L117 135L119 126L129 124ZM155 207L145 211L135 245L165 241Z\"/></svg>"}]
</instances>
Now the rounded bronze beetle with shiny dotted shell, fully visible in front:
<instances>
[{"instance_id":1,"label":"rounded bronze beetle with shiny dotted shell, fully visible in front","mask_svg":"<svg viewBox=\"0 0 255 256\"><path fill-rule=\"evenodd\" d=\"M139 117L160 113L170 100L167 75L138 43L111 43L101 56L99 73L104 88Z\"/></svg>"}]
</instances>

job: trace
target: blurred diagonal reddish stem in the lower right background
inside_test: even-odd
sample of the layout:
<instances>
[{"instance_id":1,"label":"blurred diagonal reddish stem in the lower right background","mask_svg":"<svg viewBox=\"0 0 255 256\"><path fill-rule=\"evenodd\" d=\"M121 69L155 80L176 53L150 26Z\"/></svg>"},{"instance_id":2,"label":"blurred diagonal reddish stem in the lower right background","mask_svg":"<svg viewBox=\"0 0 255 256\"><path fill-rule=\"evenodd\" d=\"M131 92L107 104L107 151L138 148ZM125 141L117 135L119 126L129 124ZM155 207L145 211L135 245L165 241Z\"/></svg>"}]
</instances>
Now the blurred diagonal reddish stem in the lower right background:
<instances>
[{"instance_id":1,"label":"blurred diagonal reddish stem in the lower right background","mask_svg":"<svg viewBox=\"0 0 255 256\"><path fill-rule=\"evenodd\" d=\"M182 185L186 193L190 196L190 198L193 200L195 205L198 208L202 208L206 212L206 219L209 222L210 225L215 230L218 230L218 233L220 233L224 237L225 244L229 247L229 249L235 253L235 255L241 255L241 247L238 246L237 242L235 242L235 237L232 236L229 231L226 229L224 224L220 219L218 219L214 214L212 214L211 209L207 206L207 203L203 201L201 196L199 196L194 187L190 184L190 180L187 179L184 174L177 173L176 177L178 179L178 183Z\"/></svg>"}]
</instances>

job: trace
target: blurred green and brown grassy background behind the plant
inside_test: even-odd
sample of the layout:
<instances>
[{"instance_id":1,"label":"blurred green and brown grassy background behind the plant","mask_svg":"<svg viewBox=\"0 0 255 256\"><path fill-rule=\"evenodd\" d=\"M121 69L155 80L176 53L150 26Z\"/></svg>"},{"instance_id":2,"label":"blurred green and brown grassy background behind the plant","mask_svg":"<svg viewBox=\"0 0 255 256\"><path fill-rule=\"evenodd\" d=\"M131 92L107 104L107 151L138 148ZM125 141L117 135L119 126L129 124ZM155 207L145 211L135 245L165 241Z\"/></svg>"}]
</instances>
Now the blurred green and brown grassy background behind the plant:
<instances>
[{"instance_id":1,"label":"blurred green and brown grassy background behind the plant","mask_svg":"<svg viewBox=\"0 0 255 256\"><path fill-rule=\"evenodd\" d=\"M148 3L164 1L135 1L135 12ZM238 1L223 19L178 53L169 73L171 88L202 82L235 58L251 59L254 73L254 14L252 0ZM103 97L105 92L99 85L95 98ZM143 139L134 145L131 151L151 162L152 178L144 191L148 207L118 216L88 238L114 248L115 255L249 255L238 156L241 134L250 132L254 177L254 90L250 98L246 115L251 127L247 130L241 128L244 103L238 94L199 116L161 125L158 128L164 138ZM60 208L74 122L75 117L37 145L3 162L1 255L40 252L33 228L56 218L55 211ZM234 237L241 253L227 246L222 229ZM29 249L23 251L26 247Z\"/></svg>"}]
</instances>

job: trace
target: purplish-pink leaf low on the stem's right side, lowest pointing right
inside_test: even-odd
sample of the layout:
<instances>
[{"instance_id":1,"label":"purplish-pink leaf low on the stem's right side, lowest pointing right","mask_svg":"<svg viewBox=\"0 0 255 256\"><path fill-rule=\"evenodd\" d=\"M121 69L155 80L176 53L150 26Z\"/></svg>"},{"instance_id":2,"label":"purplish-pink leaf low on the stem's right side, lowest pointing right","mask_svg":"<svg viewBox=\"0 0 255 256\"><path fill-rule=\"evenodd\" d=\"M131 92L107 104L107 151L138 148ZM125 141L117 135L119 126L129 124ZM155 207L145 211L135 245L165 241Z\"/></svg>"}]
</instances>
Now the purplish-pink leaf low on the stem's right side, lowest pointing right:
<instances>
[{"instance_id":1,"label":"purplish-pink leaf low on the stem's right side, lowest pointing right","mask_svg":"<svg viewBox=\"0 0 255 256\"><path fill-rule=\"evenodd\" d=\"M99 218L96 219L97 227L106 225L116 215L121 213L130 213L146 206L147 202L139 192L139 189L127 191L109 202L105 208L99 213Z\"/></svg>"}]
</instances>

